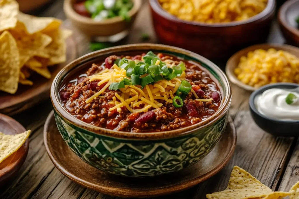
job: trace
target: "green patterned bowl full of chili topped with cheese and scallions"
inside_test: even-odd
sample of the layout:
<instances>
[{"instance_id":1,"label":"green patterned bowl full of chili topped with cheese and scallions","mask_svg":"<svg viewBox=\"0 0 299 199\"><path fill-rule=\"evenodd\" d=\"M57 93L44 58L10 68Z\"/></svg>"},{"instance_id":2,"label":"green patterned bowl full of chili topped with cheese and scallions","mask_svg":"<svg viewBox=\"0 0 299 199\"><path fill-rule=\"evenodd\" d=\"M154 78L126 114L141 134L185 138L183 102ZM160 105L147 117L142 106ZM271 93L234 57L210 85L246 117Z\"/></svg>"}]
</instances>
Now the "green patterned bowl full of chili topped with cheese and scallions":
<instances>
[{"instance_id":1,"label":"green patterned bowl full of chili topped with cheese and scallions","mask_svg":"<svg viewBox=\"0 0 299 199\"><path fill-rule=\"evenodd\" d=\"M224 132L231 90L224 73L200 55L133 44L70 63L55 78L51 100L62 137L81 159L141 177L205 157Z\"/></svg>"}]
</instances>

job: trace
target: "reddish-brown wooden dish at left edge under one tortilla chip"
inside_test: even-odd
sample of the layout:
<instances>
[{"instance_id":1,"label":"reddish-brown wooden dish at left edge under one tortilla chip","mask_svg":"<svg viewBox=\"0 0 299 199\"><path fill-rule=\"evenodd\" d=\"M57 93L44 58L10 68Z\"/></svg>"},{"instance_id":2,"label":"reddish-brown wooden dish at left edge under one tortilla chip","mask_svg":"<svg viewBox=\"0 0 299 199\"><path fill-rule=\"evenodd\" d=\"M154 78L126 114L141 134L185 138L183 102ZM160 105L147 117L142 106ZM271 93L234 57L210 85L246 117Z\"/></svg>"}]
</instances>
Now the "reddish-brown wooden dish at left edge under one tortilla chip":
<instances>
[{"instance_id":1,"label":"reddish-brown wooden dish at left edge under one tortilla chip","mask_svg":"<svg viewBox=\"0 0 299 199\"><path fill-rule=\"evenodd\" d=\"M0 114L0 132L15 135L25 132L26 129L16 120ZM0 163L0 187L14 178L23 165L29 149L29 139L12 155Z\"/></svg>"}]
</instances>

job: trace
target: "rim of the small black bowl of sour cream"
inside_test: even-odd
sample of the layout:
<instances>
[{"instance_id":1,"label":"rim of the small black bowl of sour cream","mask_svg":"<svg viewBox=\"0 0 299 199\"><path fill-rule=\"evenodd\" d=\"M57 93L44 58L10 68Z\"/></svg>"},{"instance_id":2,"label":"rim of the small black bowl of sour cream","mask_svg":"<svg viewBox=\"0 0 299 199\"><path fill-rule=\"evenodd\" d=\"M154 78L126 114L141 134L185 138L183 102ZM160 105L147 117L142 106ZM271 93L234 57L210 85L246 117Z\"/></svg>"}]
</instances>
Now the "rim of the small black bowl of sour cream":
<instances>
[{"instance_id":1,"label":"rim of the small black bowl of sour cream","mask_svg":"<svg viewBox=\"0 0 299 199\"><path fill-rule=\"evenodd\" d=\"M256 98L257 95L263 93L266 90L269 90L271 88L277 88L277 87L284 87L284 86L295 86L295 87L299 87L299 84L295 84L295 83L286 83L286 82L280 82L280 83L275 83L275 84L267 84L263 87L260 87L259 89L255 90L254 92L251 93L250 97L249 97L249 107L250 109L257 115L259 115L259 117L267 120L267 121L271 121L274 123L280 123L280 124L298 124L299 120L279 120L279 119L275 119L275 118L270 118L266 115L261 114L257 108L255 107L254 104L254 99Z\"/></svg>"}]
</instances>

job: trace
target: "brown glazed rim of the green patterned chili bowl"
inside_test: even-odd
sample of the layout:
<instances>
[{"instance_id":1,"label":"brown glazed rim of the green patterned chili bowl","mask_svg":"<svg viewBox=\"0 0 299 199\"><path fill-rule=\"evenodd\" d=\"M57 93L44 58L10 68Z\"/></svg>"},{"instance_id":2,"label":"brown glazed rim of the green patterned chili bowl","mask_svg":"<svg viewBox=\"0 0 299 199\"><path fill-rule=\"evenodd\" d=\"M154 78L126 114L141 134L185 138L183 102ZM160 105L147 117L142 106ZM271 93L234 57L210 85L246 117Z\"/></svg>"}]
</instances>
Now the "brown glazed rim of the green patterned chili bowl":
<instances>
[{"instance_id":1,"label":"brown glazed rim of the green patterned chili bowl","mask_svg":"<svg viewBox=\"0 0 299 199\"><path fill-rule=\"evenodd\" d=\"M197 124L193 124L189 127L184 127L181 129L175 129L175 130L170 130L170 131L164 131L164 132L124 132L124 131L116 131L116 130L110 130L110 129L105 129L102 127L96 127L94 125L85 123L77 118L75 118L73 115L71 115L69 112L66 111L66 109L62 106L60 103L60 97L59 97L59 89L60 89L60 83L63 81L65 76L67 76L68 72L83 64L86 61L92 61L96 57L99 56L108 56L113 53L119 53L119 52L126 52L130 50L168 50L173 53L182 53L187 56L196 58L200 61L202 61L204 64L207 64L209 67L211 67L214 72L216 72L217 75L219 75L219 78L224 84L225 89L227 90L226 95L222 96L222 104L219 107L219 109L208 119L199 122ZM216 80L216 82L219 81ZM223 92L223 91L222 91ZM223 93L222 93L223 94ZM196 132L199 129L203 129L216 121L218 121L220 118L225 116L225 114L228 112L228 109L231 104L231 87L228 81L228 78L224 74L224 72L216 66L213 62L210 60L202 57L201 55L198 55L196 53L193 53L188 50L184 50L178 47L172 47L172 46L167 46L167 45L162 45L162 44L129 44L129 45L122 45L122 46L116 46L116 47L110 47L110 48L105 48L102 50L94 51L92 53L88 53L86 55L83 55L80 58L77 58L76 60L72 61L71 63L67 64L60 72L56 75L54 78L54 81L51 86L51 91L50 91L50 96L51 96L51 101L54 107L54 110L60 114L66 121L71 123L72 125L76 127L80 127L81 129L85 129L89 132L94 132L99 135L106 135L114 138L128 138L128 139L142 139L142 140L156 140L156 139L166 139L166 138L172 138L172 137L177 137L181 135L188 135L193 132Z\"/></svg>"}]
</instances>

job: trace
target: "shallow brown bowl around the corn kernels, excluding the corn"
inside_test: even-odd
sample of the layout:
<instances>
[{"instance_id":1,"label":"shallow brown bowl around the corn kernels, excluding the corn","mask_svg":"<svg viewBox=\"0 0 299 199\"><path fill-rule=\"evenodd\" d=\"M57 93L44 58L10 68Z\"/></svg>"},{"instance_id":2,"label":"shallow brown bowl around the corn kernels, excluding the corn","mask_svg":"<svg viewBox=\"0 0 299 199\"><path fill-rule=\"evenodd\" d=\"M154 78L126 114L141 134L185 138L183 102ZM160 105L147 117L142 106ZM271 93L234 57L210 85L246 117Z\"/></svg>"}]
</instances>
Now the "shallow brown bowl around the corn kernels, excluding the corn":
<instances>
[{"instance_id":1,"label":"shallow brown bowl around the corn kernels, excluding the corn","mask_svg":"<svg viewBox=\"0 0 299 199\"><path fill-rule=\"evenodd\" d=\"M249 86L247 84L242 83L241 81L239 81L234 73L235 68L238 66L240 58L242 56L247 56L247 53L249 51L254 51L257 49L264 49L264 50L268 50L269 48L274 48L276 50L284 50L287 51L289 53L292 53L293 55L296 55L297 57L299 57L299 48L294 47L294 46L290 46L290 45L280 45L280 44L258 44L258 45L254 45L254 46L250 46L248 48L245 48L243 50L240 50L239 52L235 53L233 56L231 56L231 58L229 58L229 60L226 63L226 67L225 67L225 72L226 75L228 76L228 79L233 83L236 84L237 86L248 90L248 91L255 91L258 88Z\"/></svg>"}]
</instances>

